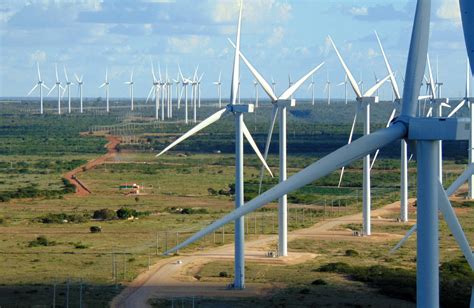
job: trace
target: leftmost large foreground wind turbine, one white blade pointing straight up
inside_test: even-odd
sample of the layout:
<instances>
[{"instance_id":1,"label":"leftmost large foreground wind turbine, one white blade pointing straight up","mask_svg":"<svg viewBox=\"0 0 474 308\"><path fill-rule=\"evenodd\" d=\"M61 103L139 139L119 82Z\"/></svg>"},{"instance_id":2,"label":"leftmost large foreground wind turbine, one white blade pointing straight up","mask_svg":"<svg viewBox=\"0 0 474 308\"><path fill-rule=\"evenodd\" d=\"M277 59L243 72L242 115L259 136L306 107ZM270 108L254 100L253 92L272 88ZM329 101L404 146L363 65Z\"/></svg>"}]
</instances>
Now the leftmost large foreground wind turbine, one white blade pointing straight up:
<instances>
[{"instance_id":1,"label":"leftmost large foreground wind turbine, one white blade pointing straight up","mask_svg":"<svg viewBox=\"0 0 474 308\"><path fill-rule=\"evenodd\" d=\"M253 105L238 105L237 102L237 92L238 92L238 82L239 82L239 71L240 71L240 25L242 20L242 2L240 3L240 12L239 12L239 23L237 28L237 47L234 55L234 64L232 70L232 82L231 82L231 93L230 93L230 103L223 109L217 111L209 118L205 119L190 131L185 133L183 136L174 141L171 145L166 147L161 151L157 156L162 155L169 149L173 148L180 142L189 138L190 136L196 134L205 127L213 124L214 122L221 119L223 116L232 114L235 119L235 207L239 209L244 204L244 165L243 165L243 141L244 136L249 141L250 145L254 149L257 156L260 158L262 163L266 166L267 170L271 173L268 165L263 159L262 154L260 153L255 141L250 135L247 126L244 123L243 115L244 113L249 113L253 111ZM244 261L244 218L241 217L235 221L235 280L233 287L235 289L245 288L245 261Z\"/></svg>"}]
</instances>

